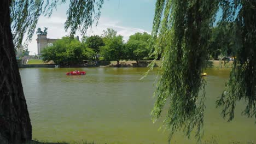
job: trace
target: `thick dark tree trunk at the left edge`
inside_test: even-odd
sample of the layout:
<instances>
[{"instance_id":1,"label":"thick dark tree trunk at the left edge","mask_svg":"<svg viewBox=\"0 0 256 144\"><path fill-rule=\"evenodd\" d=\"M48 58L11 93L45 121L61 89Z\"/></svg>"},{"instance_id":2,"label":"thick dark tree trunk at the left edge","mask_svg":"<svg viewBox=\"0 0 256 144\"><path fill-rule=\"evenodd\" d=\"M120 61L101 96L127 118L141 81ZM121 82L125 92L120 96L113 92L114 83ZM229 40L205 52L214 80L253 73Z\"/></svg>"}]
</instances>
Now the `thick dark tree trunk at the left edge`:
<instances>
[{"instance_id":1,"label":"thick dark tree trunk at the left edge","mask_svg":"<svg viewBox=\"0 0 256 144\"><path fill-rule=\"evenodd\" d=\"M30 116L16 62L10 28L11 0L0 1L0 143L32 138Z\"/></svg>"}]
</instances>

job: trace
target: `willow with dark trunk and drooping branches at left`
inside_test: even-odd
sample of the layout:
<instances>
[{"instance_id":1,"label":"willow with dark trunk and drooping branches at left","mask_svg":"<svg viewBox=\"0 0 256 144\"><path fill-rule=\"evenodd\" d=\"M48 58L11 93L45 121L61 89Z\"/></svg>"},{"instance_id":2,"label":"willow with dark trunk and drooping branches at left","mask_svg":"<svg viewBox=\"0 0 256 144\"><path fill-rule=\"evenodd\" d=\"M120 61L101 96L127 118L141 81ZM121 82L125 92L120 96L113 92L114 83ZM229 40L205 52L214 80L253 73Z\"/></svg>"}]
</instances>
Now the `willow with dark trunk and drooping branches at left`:
<instances>
[{"instance_id":1,"label":"willow with dark trunk and drooping branches at left","mask_svg":"<svg viewBox=\"0 0 256 144\"><path fill-rule=\"evenodd\" d=\"M57 4L65 0L0 1L0 142L22 143L32 139L30 117L22 89L14 47L27 35L31 41L41 14L50 16ZM71 34L86 29L98 20L103 0L70 1L65 29ZM12 29L12 31L11 31ZM27 43L25 43L26 46Z\"/></svg>"}]
</instances>

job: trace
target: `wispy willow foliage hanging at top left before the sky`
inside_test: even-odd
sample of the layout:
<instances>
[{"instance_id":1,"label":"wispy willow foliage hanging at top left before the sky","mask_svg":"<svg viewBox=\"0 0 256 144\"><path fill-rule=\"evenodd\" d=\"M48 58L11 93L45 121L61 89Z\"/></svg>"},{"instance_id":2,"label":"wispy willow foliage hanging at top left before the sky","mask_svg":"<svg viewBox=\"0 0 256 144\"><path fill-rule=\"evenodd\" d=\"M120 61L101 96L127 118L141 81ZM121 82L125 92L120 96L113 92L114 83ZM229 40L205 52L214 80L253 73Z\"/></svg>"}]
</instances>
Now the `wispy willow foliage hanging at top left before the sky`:
<instances>
[{"instance_id":1,"label":"wispy willow foliage hanging at top left before the sky","mask_svg":"<svg viewBox=\"0 0 256 144\"><path fill-rule=\"evenodd\" d=\"M100 18L100 9L103 0L78 0L70 1L67 10L67 21L65 22L66 31L71 29L71 34L79 31L84 35L86 29L92 26L94 21ZM58 4L66 3L66 0L53 0L51 3L47 0L13 0L10 5L11 28L13 31L13 39L15 47L19 47L27 35L24 47L31 41L36 29L39 16L51 16L53 9L57 8Z\"/></svg>"}]
</instances>

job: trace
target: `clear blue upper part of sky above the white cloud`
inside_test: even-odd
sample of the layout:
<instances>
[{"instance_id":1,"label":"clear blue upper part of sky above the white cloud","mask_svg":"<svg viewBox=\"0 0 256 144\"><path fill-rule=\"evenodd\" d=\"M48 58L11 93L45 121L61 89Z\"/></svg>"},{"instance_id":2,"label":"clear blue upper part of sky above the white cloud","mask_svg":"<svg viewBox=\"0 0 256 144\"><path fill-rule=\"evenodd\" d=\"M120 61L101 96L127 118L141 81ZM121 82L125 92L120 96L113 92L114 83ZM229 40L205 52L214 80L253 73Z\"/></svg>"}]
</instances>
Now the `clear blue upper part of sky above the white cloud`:
<instances>
[{"instance_id":1,"label":"clear blue upper part of sky above the white cloud","mask_svg":"<svg viewBox=\"0 0 256 144\"><path fill-rule=\"evenodd\" d=\"M151 31L155 0L110 0L102 9L102 17L119 20L124 27L136 27Z\"/></svg>"}]
</instances>

